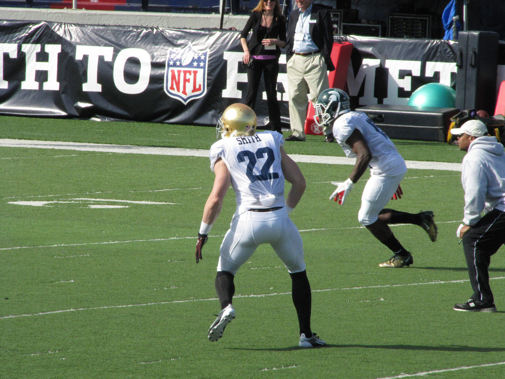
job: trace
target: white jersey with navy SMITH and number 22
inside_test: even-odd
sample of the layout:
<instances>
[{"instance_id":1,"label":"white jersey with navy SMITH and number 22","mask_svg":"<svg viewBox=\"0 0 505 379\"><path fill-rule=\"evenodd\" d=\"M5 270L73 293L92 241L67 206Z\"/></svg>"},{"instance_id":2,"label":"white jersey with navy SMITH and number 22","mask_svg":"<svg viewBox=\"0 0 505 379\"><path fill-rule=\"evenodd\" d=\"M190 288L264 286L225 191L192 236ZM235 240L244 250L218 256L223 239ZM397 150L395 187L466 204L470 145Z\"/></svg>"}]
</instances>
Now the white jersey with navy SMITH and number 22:
<instances>
[{"instance_id":1,"label":"white jersey with navy SMITH and number 22","mask_svg":"<svg viewBox=\"0 0 505 379\"><path fill-rule=\"evenodd\" d=\"M251 208L282 207L284 175L279 148L284 146L282 135L263 131L250 137L225 137L215 142L210 151L211 170L221 158L231 174L237 211Z\"/></svg>"}]
</instances>

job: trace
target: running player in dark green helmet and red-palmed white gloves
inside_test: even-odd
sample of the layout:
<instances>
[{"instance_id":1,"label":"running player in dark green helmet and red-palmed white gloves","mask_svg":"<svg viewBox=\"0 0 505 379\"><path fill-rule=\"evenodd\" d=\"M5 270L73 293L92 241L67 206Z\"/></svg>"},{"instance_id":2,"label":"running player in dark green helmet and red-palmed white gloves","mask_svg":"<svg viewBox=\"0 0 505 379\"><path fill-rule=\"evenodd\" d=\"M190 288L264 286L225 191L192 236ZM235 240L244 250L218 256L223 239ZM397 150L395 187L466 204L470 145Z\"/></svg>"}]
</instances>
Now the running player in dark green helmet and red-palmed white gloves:
<instances>
[{"instance_id":1,"label":"running player in dark green helmet and red-palmed white gloves","mask_svg":"<svg viewBox=\"0 0 505 379\"><path fill-rule=\"evenodd\" d=\"M333 125L333 135L349 158L356 158L354 170L344 182L335 182L337 189L330 200L343 205L354 184L370 167L361 197L358 220L388 247L393 256L379 264L380 267L405 267L414 263L412 254L395 238L388 224L414 224L428 233L432 242L437 238L433 212L407 213L384 209L390 199L401 198L400 181L407 172L405 160L388 136L363 112L352 112L349 96L338 88L327 89L319 95L314 105L318 125Z\"/></svg>"}]
</instances>

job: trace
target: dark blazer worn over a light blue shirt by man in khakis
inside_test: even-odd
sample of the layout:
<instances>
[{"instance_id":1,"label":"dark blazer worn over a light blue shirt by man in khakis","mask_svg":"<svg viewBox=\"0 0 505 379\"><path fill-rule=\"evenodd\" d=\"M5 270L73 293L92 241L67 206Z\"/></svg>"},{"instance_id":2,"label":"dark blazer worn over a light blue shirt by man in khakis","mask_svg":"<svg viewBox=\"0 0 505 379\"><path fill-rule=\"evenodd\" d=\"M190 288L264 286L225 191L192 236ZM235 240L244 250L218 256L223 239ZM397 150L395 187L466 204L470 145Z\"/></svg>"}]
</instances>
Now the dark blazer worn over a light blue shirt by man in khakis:
<instances>
[{"instance_id":1,"label":"dark blazer worn over a light blue shirt by man in khakis","mask_svg":"<svg viewBox=\"0 0 505 379\"><path fill-rule=\"evenodd\" d=\"M300 10L298 8L289 13L286 32L286 61L289 61L293 55L294 30L299 16ZM328 71L333 71L335 69L333 62L331 61L331 50L333 49L333 24L331 22L330 13L327 8L320 6L319 4L312 3L310 19L316 20L316 22L309 25L309 32L312 40L319 50L321 50L321 55L323 56Z\"/></svg>"}]
</instances>

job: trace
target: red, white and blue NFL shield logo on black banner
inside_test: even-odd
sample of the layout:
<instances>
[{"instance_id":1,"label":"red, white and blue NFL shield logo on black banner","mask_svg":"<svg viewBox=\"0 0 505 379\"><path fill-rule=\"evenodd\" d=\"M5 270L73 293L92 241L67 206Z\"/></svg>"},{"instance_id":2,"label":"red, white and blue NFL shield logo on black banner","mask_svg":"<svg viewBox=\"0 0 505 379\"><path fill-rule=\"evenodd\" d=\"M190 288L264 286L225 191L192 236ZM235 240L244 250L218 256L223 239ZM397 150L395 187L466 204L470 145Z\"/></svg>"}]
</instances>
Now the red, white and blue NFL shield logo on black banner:
<instances>
[{"instance_id":1,"label":"red, white and blue NFL shield logo on black banner","mask_svg":"<svg viewBox=\"0 0 505 379\"><path fill-rule=\"evenodd\" d=\"M184 105L207 92L209 51L198 51L189 44L184 49L169 49L165 70L165 92Z\"/></svg>"}]
</instances>

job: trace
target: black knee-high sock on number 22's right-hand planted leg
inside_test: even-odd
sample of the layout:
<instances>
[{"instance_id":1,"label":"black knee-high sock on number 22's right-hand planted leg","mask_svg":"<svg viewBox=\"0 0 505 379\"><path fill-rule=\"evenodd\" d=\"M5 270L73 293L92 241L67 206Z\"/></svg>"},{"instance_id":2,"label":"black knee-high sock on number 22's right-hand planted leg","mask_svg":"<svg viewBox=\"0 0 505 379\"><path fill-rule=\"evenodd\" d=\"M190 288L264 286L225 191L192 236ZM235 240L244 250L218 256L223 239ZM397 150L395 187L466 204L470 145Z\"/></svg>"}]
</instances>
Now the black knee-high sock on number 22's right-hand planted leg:
<instances>
[{"instance_id":1,"label":"black knee-high sock on number 22's right-hand planted leg","mask_svg":"<svg viewBox=\"0 0 505 379\"><path fill-rule=\"evenodd\" d=\"M312 293L307 271L294 272L291 276L291 288L294 308L298 315L298 324L300 334L304 333L306 337L312 337L311 330L311 308Z\"/></svg>"}]
</instances>

